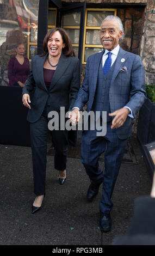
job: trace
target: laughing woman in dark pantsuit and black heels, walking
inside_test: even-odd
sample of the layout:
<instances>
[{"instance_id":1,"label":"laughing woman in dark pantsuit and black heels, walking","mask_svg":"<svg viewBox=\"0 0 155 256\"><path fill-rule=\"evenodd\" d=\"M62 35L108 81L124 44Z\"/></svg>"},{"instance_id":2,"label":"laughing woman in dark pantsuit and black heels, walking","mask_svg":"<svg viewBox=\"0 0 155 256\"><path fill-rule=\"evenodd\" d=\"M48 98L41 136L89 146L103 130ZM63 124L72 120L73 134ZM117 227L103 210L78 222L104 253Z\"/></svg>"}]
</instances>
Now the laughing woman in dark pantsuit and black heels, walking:
<instances>
[{"instance_id":1,"label":"laughing woman in dark pantsuit and black heels, walking","mask_svg":"<svg viewBox=\"0 0 155 256\"><path fill-rule=\"evenodd\" d=\"M71 111L80 87L79 60L69 36L63 28L52 28L43 42L44 54L34 56L32 71L23 87L23 105L29 108L32 147L34 193L36 198L32 213L41 208L45 195L48 113L60 107ZM32 95L30 95L32 92ZM60 127L59 127L60 128ZM66 129L52 130L55 148L54 167L59 170L59 182L66 179L67 135Z\"/></svg>"}]
</instances>

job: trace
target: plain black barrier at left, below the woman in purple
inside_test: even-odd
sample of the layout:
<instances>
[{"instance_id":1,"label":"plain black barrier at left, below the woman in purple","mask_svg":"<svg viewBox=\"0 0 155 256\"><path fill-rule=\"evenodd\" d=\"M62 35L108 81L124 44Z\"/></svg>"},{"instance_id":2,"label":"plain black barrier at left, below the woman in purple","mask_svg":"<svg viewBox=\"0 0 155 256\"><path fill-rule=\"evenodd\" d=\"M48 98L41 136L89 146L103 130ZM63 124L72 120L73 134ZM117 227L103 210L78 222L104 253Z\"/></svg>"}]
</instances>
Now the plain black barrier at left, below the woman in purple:
<instances>
[{"instance_id":1,"label":"plain black barrier at left, below the woman in purple","mask_svg":"<svg viewBox=\"0 0 155 256\"><path fill-rule=\"evenodd\" d=\"M22 88L0 86L0 144L30 146L28 109L22 104Z\"/></svg>"}]
</instances>

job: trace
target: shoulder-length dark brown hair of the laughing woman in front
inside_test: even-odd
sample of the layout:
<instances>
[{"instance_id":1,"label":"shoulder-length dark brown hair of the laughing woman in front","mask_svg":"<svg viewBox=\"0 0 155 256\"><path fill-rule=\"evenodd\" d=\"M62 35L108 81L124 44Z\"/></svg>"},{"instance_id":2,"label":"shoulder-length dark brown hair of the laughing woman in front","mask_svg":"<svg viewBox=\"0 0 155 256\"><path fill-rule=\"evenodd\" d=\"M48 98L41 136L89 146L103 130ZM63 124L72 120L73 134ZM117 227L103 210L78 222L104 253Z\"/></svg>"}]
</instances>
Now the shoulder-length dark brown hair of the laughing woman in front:
<instances>
[{"instance_id":1,"label":"shoulder-length dark brown hair of the laughing woman in front","mask_svg":"<svg viewBox=\"0 0 155 256\"><path fill-rule=\"evenodd\" d=\"M42 55L45 56L48 53L47 42L48 42L49 38L56 31L59 31L59 33L62 36L63 43L65 44L65 47L63 48L63 53L65 54L65 56L67 56L67 57L69 57L69 56L75 57L75 51L73 50L73 46L72 46L71 40L69 38L69 35L66 33L65 29L63 29L63 28L51 28L47 32L47 34L46 34L46 36L44 38L44 42L43 42L44 53Z\"/></svg>"}]
</instances>

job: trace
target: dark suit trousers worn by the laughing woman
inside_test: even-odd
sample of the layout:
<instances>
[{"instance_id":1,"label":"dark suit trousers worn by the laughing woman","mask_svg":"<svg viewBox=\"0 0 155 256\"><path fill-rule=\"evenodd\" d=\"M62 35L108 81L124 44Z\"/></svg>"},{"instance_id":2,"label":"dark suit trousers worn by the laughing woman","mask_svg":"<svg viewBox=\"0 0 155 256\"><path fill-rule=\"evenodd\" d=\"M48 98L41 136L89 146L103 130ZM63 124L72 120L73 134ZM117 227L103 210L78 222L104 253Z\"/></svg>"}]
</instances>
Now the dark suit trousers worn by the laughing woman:
<instances>
[{"instance_id":1,"label":"dark suit trousers worn by the laughing woman","mask_svg":"<svg viewBox=\"0 0 155 256\"><path fill-rule=\"evenodd\" d=\"M33 161L33 179L34 193L40 196L45 193L46 181L46 156L47 156L47 139L48 139L48 118L46 109L40 119L35 123L30 123L30 141L32 148ZM57 170L66 169L67 159L67 132L53 130L52 142L55 149L54 167Z\"/></svg>"}]
</instances>

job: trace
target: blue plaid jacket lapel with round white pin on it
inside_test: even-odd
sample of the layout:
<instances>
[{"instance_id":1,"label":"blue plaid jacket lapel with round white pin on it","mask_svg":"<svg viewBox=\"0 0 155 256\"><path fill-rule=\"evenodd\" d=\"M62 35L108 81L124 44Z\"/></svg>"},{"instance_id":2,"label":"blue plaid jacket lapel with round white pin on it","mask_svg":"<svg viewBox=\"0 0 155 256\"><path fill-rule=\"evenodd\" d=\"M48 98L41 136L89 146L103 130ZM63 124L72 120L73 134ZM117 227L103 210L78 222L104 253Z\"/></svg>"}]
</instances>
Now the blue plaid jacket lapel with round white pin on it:
<instances>
[{"instance_id":1,"label":"blue plaid jacket lapel with round white pin on it","mask_svg":"<svg viewBox=\"0 0 155 256\"><path fill-rule=\"evenodd\" d=\"M111 78L111 84L114 82L114 80L115 80L117 74L119 73L119 71L121 70L122 66L125 65L127 58L128 58L127 52L122 50L122 48L120 47L119 53L115 60L115 68L114 68L113 77Z\"/></svg>"}]
</instances>

